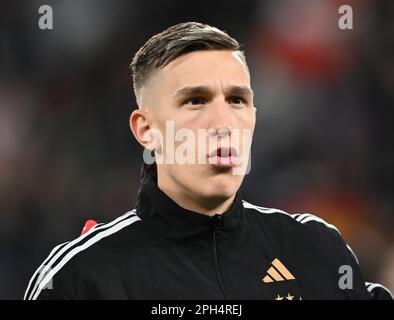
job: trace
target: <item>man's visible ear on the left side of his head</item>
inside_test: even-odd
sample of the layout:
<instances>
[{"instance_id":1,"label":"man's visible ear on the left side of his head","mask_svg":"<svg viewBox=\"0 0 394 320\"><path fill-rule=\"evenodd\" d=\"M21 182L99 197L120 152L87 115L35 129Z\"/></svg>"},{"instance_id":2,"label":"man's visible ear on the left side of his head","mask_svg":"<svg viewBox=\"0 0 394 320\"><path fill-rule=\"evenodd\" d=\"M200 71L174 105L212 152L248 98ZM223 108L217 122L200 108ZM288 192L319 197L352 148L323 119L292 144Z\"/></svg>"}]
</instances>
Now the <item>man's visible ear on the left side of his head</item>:
<instances>
[{"instance_id":1,"label":"man's visible ear on the left side of his head","mask_svg":"<svg viewBox=\"0 0 394 320\"><path fill-rule=\"evenodd\" d=\"M133 132L135 139L141 146L148 150L154 150L153 137L150 134L148 111L136 109L129 119L130 129Z\"/></svg>"}]
</instances>

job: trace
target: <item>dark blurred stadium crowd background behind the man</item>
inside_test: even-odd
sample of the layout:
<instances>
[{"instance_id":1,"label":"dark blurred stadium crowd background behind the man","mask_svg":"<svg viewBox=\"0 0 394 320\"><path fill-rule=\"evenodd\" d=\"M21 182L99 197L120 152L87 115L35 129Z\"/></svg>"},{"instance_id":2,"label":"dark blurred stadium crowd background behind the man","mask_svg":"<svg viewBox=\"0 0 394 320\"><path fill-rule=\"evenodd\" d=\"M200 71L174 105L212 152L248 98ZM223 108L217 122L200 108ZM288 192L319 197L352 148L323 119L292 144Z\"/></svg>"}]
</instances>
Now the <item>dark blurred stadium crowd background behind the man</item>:
<instances>
[{"instance_id":1,"label":"dark blurred stadium crowd background behind the man","mask_svg":"<svg viewBox=\"0 0 394 320\"><path fill-rule=\"evenodd\" d=\"M53 30L37 26L43 4ZM366 280L394 290L393 1L34 0L0 5L0 298L20 299L87 219L134 207L128 66L184 21L244 44L259 109L245 199L337 225Z\"/></svg>"}]
</instances>

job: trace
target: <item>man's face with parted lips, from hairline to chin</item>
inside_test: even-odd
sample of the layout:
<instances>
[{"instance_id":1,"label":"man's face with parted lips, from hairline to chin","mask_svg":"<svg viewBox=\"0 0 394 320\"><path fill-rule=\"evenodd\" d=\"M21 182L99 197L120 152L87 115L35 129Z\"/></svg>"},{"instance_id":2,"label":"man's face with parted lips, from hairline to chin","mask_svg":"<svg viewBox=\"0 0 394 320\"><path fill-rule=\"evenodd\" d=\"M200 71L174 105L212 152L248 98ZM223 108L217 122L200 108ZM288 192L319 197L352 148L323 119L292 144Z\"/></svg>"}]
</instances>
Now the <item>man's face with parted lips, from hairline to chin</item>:
<instances>
[{"instance_id":1,"label":"man's face with parted lips, from hairline to chin","mask_svg":"<svg viewBox=\"0 0 394 320\"><path fill-rule=\"evenodd\" d=\"M150 114L151 127L158 129L164 138L163 164L158 165L159 186L202 201L220 201L233 196L244 177L235 174L235 169L245 167L248 161L256 121L250 76L242 59L233 51L188 53L154 74L141 96L143 107ZM166 121L173 121L175 134L184 128L193 132L195 163L179 164L176 157L173 164L166 163L166 159L169 156L174 158L174 152L186 141L186 138L174 141L174 149L170 150L166 146L166 133L169 133L166 132ZM199 129L205 129L206 133L202 149L198 143ZM217 129L223 136L209 139L209 134L214 134ZM226 134L229 130L232 130L232 136L238 134L238 141ZM250 139L246 138L247 135ZM210 158L209 155L220 147L233 147L238 157L235 158L234 154L226 156L223 148L223 157ZM233 160L240 159L242 163L233 163Z\"/></svg>"}]
</instances>

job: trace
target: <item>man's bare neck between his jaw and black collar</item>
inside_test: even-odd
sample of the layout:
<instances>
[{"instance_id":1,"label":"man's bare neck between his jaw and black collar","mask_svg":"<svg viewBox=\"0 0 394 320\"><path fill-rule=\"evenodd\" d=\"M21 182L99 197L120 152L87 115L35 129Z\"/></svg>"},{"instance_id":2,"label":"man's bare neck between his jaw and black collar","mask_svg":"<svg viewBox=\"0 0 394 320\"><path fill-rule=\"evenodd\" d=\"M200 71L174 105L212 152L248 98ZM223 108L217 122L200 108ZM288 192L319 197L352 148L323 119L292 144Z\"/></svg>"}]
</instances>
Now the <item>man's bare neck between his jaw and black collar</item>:
<instances>
[{"instance_id":1,"label":"man's bare neck between his jaw and black collar","mask_svg":"<svg viewBox=\"0 0 394 320\"><path fill-rule=\"evenodd\" d=\"M235 194L230 198L223 197L204 197L192 193L190 190L176 187L176 183L168 183L166 179L158 174L157 185L168 197L184 209L194 211L207 216L223 214L234 201Z\"/></svg>"}]
</instances>

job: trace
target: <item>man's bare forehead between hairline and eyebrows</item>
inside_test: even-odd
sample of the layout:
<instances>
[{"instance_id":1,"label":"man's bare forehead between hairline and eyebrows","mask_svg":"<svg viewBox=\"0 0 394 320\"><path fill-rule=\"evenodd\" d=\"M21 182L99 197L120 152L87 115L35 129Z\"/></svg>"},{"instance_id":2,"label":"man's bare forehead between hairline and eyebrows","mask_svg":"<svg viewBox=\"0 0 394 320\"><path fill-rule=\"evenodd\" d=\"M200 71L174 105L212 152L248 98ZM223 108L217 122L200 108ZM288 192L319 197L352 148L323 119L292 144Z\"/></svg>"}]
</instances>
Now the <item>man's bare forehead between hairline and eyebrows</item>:
<instances>
[{"instance_id":1,"label":"man's bare forehead between hairline and eyebrows","mask_svg":"<svg viewBox=\"0 0 394 320\"><path fill-rule=\"evenodd\" d=\"M182 55L160 70L163 89L183 86L250 87L247 66L234 51L196 51Z\"/></svg>"}]
</instances>

